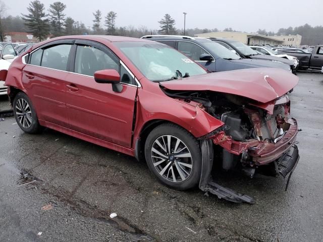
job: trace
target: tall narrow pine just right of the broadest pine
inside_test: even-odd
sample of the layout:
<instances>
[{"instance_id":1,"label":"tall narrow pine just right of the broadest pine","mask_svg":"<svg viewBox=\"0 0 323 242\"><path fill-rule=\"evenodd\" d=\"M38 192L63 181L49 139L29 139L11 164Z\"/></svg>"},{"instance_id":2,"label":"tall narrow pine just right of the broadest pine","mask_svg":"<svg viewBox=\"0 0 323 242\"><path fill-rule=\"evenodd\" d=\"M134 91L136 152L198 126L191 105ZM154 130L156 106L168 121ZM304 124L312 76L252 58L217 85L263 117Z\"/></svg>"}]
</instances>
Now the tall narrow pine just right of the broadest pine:
<instances>
[{"instance_id":1,"label":"tall narrow pine just right of the broadest pine","mask_svg":"<svg viewBox=\"0 0 323 242\"><path fill-rule=\"evenodd\" d=\"M55 23L53 26L53 35L61 36L63 34L65 14L63 11L66 9L66 5L61 2L55 2L49 5L49 16L51 18L51 22Z\"/></svg>"}]
</instances>

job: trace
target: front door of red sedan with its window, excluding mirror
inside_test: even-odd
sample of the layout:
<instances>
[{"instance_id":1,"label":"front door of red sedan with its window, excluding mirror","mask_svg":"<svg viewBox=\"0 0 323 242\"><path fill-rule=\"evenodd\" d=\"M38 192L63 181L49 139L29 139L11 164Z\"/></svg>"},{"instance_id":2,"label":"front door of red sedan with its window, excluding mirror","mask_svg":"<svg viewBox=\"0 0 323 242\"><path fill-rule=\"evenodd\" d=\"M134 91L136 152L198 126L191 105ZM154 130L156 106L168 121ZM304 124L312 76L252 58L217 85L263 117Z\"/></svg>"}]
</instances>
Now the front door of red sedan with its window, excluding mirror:
<instances>
[{"instance_id":1,"label":"front door of red sedan with its window, excluding mirror","mask_svg":"<svg viewBox=\"0 0 323 242\"><path fill-rule=\"evenodd\" d=\"M131 146L137 83L134 75L105 45L77 40L74 61L67 80L68 116L71 129L82 134ZM114 92L111 84L96 83L94 72L114 69L120 73L123 90Z\"/></svg>"}]
</instances>

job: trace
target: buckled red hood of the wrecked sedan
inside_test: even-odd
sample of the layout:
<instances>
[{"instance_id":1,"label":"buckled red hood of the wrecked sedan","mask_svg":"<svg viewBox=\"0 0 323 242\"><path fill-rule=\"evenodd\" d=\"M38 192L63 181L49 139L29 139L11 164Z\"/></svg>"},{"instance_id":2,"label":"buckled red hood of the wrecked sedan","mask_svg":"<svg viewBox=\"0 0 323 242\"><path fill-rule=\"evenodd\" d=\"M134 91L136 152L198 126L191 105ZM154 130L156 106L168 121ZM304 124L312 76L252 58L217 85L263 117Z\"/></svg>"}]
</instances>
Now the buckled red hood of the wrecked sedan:
<instances>
[{"instance_id":1,"label":"buckled red hood of the wrecked sedan","mask_svg":"<svg viewBox=\"0 0 323 242\"><path fill-rule=\"evenodd\" d=\"M160 82L176 91L214 91L235 94L261 103L270 102L293 89L298 77L281 69L253 68L209 73L181 80Z\"/></svg>"}]
</instances>

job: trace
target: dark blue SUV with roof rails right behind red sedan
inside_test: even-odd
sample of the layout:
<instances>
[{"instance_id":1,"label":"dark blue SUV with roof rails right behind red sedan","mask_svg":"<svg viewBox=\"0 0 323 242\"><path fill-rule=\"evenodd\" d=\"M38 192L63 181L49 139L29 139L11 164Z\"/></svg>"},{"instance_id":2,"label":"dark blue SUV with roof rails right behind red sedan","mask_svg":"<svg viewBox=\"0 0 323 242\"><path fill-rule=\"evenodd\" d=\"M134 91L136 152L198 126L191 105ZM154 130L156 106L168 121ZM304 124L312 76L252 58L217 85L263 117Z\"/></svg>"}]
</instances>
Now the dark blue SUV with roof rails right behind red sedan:
<instances>
[{"instance_id":1,"label":"dark blue SUV with roof rails right behind red sedan","mask_svg":"<svg viewBox=\"0 0 323 242\"><path fill-rule=\"evenodd\" d=\"M291 70L288 65L279 62L241 58L221 44L206 38L173 35L146 35L141 38L149 38L150 40L167 44L181 51L211 72L263 67Z\"/></svg>"}]
</instances>

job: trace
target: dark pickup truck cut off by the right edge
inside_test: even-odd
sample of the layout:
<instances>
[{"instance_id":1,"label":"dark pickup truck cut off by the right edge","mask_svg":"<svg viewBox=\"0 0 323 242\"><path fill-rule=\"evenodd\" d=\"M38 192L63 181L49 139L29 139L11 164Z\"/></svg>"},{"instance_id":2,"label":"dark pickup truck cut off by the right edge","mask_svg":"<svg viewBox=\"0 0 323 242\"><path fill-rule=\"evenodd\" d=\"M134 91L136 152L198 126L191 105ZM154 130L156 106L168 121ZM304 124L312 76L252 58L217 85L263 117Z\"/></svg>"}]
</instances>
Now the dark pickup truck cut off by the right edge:
<instances>
[{"instance_id":1,"label":"dark pickup truck cut off by the right edge","mask_svg":"<svg viewBox=\"0 0 323 242\"><path fill-rule=\"evenodd\" d=\"M312 53L308 53L303 49L286 48L278 49L280 54L289 54L299 59L300 70L322 70L323 67L323 45L316 45Z\"/></svg>"}]
</instances>

